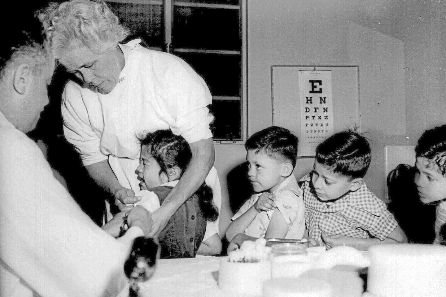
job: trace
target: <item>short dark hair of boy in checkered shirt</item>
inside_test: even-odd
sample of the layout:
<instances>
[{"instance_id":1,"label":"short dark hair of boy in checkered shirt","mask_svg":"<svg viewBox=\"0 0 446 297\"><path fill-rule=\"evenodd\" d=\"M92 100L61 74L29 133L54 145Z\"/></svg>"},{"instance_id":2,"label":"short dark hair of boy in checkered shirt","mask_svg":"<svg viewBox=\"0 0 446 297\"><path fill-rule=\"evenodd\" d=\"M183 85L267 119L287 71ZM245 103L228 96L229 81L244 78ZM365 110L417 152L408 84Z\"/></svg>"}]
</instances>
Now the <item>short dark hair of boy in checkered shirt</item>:
<instances>
[{"instance_id":1,"label":"short dark hair of boy in checkered shirt","mask_svg":"<svg viewBox=\"0 0 446 297\"><path fill-rule=\"evenodd\" d=\"M316 148L316 161L351 179L364 177L371 158L367 139L351 130L333 134Z\"/></svg>"}]
</instances>

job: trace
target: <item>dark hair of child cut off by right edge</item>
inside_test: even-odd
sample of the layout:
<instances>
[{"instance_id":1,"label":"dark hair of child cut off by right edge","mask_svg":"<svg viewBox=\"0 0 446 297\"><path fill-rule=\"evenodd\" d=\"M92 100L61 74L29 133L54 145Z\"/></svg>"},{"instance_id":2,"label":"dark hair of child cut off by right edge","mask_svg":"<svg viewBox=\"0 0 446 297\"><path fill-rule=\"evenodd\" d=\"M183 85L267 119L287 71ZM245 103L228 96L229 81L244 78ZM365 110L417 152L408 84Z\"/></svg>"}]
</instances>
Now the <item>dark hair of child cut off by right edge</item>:
<instances>
[{"instance_id":1,"label":"dark hair of child cut off by right edge","mask_svg":"<svg viewBox=\"0 0 446 297\"><path fill-rule=\"evenodd\" d=\"M446 125L426 130L415 146L415 157L434 161L443 176L446 173Z\"/></svg>"}]
</instances>

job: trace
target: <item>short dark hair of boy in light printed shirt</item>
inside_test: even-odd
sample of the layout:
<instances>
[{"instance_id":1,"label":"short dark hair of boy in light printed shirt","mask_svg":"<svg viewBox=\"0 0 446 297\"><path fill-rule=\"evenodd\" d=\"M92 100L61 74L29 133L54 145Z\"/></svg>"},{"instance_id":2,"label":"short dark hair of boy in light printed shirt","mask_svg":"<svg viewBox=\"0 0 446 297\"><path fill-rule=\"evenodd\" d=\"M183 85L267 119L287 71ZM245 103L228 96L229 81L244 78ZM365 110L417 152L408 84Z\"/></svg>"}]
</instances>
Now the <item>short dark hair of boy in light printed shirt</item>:
<instances>
[{"instance_id":1,"label":"short dark hair of boy in light printed shirt","mask_svg":"<svg viewBox=\"0 0 446 297\"><path fill-rule=\"evenodd\" d=\"M262 151L273 159L288 159L296 166L297 136L288 129L271 126L251 135L246 140L246 150Z\"/></svg>"}]
</instances>

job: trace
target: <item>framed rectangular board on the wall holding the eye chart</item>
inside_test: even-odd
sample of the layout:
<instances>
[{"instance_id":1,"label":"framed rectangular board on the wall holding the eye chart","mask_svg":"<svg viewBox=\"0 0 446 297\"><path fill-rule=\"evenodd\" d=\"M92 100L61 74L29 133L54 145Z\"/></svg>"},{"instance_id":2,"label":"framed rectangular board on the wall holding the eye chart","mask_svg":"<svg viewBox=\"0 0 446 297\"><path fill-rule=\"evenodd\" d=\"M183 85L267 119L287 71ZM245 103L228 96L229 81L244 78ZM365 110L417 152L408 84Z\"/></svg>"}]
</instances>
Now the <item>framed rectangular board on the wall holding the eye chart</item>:
<instances>
[{"instance_id":1,"label":"framed rectangular board on the wall holding the eye chart","mask_svg":"<svg viewBox=\"0 0 446 297\"><path fill-rule=\"evenodd\" d=\"M358 76L358 66L271 67L273 125L299 138L298 157L314 157L336 132L360 129Z\"/></svg>"}]
</instances>

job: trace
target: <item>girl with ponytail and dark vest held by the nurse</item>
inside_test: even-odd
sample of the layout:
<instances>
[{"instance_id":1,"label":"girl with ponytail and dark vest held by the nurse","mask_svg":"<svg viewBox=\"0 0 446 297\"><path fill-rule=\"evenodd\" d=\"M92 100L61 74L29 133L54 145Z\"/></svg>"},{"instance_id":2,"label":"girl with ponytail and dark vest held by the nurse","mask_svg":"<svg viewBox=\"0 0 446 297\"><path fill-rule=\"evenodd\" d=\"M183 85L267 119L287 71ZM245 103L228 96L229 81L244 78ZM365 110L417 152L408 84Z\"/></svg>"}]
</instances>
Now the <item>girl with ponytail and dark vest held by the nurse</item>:
<instances>
[{"instance_id":1,"label":"girl with ponytail and dark vest held by the nurse","mask_svg":"<svg viewBox=\"0 0 446 297\"><path fill-rule=\"evenodd\" d=\"M178 183L189 165L192 152L182 136L170 130L149 133L141 140L140 165L136 169L141 200L136 205L153 211ZM203 185L190 197L161 231L158 240L161 259L216 255L221 252L221 239L215 228L208 228L218 218L212 202L212 190Z\"/></svg>"}]
</instances>

